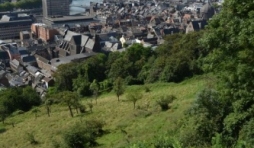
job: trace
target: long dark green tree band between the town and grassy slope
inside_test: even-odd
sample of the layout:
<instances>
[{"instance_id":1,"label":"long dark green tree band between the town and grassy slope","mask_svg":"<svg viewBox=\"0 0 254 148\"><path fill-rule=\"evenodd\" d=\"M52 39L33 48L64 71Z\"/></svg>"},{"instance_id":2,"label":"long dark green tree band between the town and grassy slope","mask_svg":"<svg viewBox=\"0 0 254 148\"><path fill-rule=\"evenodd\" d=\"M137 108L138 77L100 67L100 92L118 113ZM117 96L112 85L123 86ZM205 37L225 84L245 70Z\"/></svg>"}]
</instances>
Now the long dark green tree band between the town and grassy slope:
<instances>
[{"instance_id":1,"label":"long dark green tree band between the town and grassy slope","mask_svg":"<svg viewBox=\"0 0 254 148\"><path fill-rule=\"evenodd\" d=\"M94 93L90 86L96 80L100 92L114 89L119 97L123 91L122 83L179 82L202 73L199 58L205 55L205 51L198 45L202 34L193 32L168 36L166 43L156 50L134 44L124 52L97 54L81 63L60 65L54 75L56 88L88 96Z\"/></svg>"}]
</instances>

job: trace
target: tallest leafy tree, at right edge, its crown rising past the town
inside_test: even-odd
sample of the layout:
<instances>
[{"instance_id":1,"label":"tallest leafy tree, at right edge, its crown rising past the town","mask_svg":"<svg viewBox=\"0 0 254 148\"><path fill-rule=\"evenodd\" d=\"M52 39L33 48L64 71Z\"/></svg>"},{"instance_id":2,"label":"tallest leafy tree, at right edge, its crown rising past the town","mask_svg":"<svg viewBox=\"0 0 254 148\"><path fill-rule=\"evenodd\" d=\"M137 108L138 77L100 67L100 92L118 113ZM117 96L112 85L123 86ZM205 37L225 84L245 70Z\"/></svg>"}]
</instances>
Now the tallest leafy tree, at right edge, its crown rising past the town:
<instances>
[{"instance_id":1,"label":"tallest leafy tree, at right edge, its crown rising past the town","mask_svg":"<svg viewBox=\"0 0 254 148\"><path fill-rule=\"evenodd\" d=\"M210 53L204 69L218 76L218 102L226 102L217 124L225 147L236 144L243 125L254 117L253 7L251 1L225 0L200 40Z\"/></svg>"}]
</instances>

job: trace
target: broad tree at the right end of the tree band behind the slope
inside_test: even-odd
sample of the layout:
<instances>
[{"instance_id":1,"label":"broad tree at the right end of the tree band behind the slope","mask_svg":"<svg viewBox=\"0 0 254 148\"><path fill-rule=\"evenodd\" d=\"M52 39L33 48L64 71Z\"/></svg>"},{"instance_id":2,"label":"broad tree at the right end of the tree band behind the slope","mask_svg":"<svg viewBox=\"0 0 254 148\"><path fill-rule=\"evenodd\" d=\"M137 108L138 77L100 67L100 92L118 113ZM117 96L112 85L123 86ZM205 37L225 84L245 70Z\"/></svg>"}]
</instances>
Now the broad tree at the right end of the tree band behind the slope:
<instances>
[{"instance_id":1,"label":"broad tree at the right end of the tree band behind the slope","mask_svg":"<svg viewBox=\"0 0 254 148\"><path fill-rule=\"evenodd\" d=\"M198 44L203 31L190 34L174 34L165 37L165 43L156 50L156 59L146 74L147 82L180 82L186 77L202 73L200 57L206 55Z\"/></svg>"}]
</instances>

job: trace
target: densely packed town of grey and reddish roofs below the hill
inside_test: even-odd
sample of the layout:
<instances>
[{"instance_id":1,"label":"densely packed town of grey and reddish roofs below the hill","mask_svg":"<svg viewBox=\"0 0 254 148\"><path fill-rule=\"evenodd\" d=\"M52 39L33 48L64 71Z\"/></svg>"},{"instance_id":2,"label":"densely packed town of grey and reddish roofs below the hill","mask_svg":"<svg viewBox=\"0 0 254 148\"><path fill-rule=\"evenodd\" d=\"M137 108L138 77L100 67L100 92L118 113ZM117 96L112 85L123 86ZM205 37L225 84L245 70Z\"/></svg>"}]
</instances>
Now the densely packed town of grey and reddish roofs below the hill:
<instances>
[{"instance_id":1,"label":"densely packed town of grey and reddish roofs below the hill","mask_svg":"<svg viewBox=\"0 0 254 148\"><path fill-rule=\"evenodd\" d=\"M104 0L90 2L82 14L68 15L68 0L61 9L53 5L63 0L42 1L40 14L0 13L0 85L30 85L41 97L54 85L59 65L122 52L134 43L155 50L166 35L204 29L223 2Z\"/></svg>"}]
</instances>

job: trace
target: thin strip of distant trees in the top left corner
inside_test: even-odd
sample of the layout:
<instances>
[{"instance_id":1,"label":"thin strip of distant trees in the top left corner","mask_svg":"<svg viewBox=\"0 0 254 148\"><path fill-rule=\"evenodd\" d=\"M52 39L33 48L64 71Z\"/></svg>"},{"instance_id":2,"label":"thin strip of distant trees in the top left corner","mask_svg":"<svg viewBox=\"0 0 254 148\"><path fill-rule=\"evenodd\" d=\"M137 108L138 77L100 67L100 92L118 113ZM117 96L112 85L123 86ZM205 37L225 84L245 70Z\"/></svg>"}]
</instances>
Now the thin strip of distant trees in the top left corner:
<instances>
[{"instance_id":1,"label":"thin strip of distant trees in the top left corner","mask_svg":"<svg viewBox=\"0 0 254 148\"><path fill-rule=\"evenodd\" d=\"M4 2L0 4L0 11L12 11L16 9L33 9L42 6L41 0L18 0L16 3Z\"/></svg>"}]
</instances>

